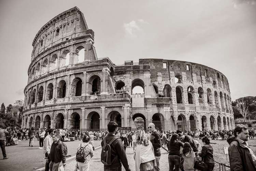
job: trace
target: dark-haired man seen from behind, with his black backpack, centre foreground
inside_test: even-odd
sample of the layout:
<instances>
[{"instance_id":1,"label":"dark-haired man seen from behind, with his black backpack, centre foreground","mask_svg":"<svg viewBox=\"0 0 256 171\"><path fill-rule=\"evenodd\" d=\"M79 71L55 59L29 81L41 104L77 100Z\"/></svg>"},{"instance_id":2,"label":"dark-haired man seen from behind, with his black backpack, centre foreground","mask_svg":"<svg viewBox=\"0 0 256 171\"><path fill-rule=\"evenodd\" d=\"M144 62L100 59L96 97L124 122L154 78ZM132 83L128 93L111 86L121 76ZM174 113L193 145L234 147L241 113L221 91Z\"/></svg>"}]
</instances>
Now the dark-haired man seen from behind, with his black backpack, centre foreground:
<instances>
[{"instance_id":1,"label":"dark-haired man seen from behind, with his black backpack, centre foreground","mask_svg":"<svg viewBox=\"0 0 256 171\"><path fill-rule=\"evenodd\" d=\"M116 122L111 121L108 124L109 133L101 141L104 171L121 171L122 163L125 170L130 171L122 140L116 136L117 126Z\"/></svg>"}]
</instances>

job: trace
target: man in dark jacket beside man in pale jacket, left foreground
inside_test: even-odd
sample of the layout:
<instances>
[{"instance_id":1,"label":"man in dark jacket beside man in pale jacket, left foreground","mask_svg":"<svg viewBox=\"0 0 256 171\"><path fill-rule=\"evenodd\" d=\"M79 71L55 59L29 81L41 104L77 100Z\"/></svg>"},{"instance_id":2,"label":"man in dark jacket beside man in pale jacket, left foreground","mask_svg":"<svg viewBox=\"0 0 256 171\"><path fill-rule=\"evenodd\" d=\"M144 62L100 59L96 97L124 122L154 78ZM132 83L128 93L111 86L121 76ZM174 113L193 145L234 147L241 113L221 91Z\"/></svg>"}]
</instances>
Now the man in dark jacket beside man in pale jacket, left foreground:
<instances>
[{"instance_id":1,"label":"man in dark jacket beside man in pale jacket, left foreground","mask_svg":"<svg viewBox=\"0 0 256 171\"><path fill-rule=\"evenodd\" d=\"M52 144L52 147L51 147L50 154L47 157L47 160L48 159L51 160L51 162L49 164L49 167L50 167L51 171L58 171L59 164L60 164L61 161L62 161L63 167L65 167L65 165L66 165L65 146L59 140L59 134L58 133L53 134L53 144Z\"/></svg>"}]
</instances>

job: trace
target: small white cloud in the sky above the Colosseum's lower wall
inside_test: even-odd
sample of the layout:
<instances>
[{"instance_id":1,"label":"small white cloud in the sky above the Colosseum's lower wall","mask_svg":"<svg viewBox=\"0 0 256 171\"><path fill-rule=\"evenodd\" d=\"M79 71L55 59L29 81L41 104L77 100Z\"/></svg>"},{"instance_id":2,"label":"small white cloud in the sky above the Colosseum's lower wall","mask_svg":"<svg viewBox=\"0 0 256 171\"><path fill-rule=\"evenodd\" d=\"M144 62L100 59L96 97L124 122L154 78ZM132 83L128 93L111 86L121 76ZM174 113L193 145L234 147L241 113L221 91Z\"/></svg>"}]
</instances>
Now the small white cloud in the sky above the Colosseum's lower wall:
<instances>
[{"instance_id":1,"label":"small white cloud in the sky above the Colosseum's lower wall","mask_svg":"<svg viewBox=\"0 0 256 171\"><path fill-rule=\"evenodd\" d=\"M148 22L144 21L143 19L138 19L140 24L148 24ZM125 29L125 37L127 38L137 38L136 31L141 30L139 25L136 21L132 20L130 23L124 23Z\"/></svg>"}]
</instances>

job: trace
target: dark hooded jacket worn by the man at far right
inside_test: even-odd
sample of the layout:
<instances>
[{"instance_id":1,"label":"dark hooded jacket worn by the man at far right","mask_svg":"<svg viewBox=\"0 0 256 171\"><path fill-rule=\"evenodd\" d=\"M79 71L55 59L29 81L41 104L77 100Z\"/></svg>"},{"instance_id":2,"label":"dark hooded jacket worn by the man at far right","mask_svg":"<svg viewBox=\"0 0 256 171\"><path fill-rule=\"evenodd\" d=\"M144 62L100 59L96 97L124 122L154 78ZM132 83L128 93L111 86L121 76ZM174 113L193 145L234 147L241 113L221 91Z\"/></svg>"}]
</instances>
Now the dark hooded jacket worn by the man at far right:
<instances>
[{"instance_id":1,"label":"dark hooded jacket worn by the man at far right","mask_svg":"<svg viewBox=\"0 0 256 171\"><path fill-rule=\"evenodd\" d=\"M256 171L249 149L241 146L235 137L229 137L227 142L230 171Z\"/></svg>"}]
</instances>

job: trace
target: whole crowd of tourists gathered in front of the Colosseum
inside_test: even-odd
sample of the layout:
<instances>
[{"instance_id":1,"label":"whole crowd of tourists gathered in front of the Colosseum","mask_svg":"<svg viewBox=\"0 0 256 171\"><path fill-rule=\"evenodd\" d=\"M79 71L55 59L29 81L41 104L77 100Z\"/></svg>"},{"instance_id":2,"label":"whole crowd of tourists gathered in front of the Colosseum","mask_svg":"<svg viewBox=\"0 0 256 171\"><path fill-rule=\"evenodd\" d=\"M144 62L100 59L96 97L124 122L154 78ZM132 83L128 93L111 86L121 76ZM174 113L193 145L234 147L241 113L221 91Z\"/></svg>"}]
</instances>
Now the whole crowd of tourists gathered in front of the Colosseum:
<instances>
[{"instance_id":1,"label":"whole crowd of tourists gathered in front of the Colosseum","mask_svg":"<svg viewBox=\"0 0 256 171\"><path fill-rule=\"evenodd\" d=\"M29 130L7 128L0 129L0 145L4 159L8 159L5 153L5 145L10 144L10 139L17 138L19 141L28 140L29 146L33 146L34 139L39 140L40 149L47 158L45 170L57 171L62 162L65 167L67 146L63 141L73 137L76 141L82 141L77 147L77 154L84 155L83 160L78 159L76 168L81 171L89 170L90 158L94 155L94 141L101 141L101 161L104 163L104 171L119 171L122 164L129 171L126 148L133 148L136 171L159 171L161 147L168 148L169 171L185 170L194 171L196 162L201 158L207 165L207 170L214 169L214 151L210 140L226 140L230 146L229 159L231 170L256 170L256 157L248 146L247 141L255 138L256 129L247 129L244 125L237 125L234 130L195 130L195 131L159 131L150 123L148 131L118 131L117 123L111 121L108 130L105 131L75 131L67 129ZM5 139L6 143L5 143ZM203 146L198 142L202 141ZM106 145L108 144L108 145ZM109 148L110 147L110 148ZM110 156L105 154L110 152ZM80 155L81 156L81 155ZM80 157L81 158L81 157ZM82 157L83 158L83 157ZM110 164L106 164L110 162ZM122 164L121 164L122 163Z\"/></svg>"}]
</instances>

